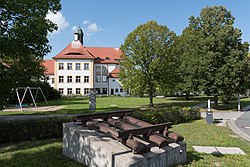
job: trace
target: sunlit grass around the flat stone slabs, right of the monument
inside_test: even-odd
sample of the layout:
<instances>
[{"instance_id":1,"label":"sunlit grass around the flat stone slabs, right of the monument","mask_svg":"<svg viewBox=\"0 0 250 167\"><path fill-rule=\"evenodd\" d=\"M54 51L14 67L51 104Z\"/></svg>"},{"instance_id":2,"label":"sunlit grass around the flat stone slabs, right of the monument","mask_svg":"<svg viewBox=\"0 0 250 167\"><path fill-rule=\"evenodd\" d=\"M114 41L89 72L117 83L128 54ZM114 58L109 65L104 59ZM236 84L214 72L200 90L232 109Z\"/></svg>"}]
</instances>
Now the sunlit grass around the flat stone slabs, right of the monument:
<instances>
[{"instance_id":1,"label":"sunlit grass around the flat stone slabs, right of the monument","mask_svg":"<svg viewBox=\"0 0 250 167\"><path fill-rule=\"evenodd\" d=\"M234 135L228 127L208 125L204 120L199 120L176 125L172 130L185 137L188 157L185 166L250 166L250 143ZM192 146L239 147L247 155L201 154L195 152Z\"/></svg>"}]
</instances>

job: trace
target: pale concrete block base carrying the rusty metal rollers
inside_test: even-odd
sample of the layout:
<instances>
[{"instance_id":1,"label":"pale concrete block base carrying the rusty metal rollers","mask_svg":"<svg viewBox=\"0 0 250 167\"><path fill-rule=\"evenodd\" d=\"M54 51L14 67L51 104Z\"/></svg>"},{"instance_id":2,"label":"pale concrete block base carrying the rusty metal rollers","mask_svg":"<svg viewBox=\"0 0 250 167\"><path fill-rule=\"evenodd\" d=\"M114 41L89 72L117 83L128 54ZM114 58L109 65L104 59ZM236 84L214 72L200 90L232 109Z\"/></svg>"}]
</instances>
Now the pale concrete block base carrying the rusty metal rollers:
<instances>
[{"instance_id":1,"label":"pale concrete block base carrying the rusty metal rollers","mask_svg":"<svg viewBox=\"0 0 250 167\"><path fill-rule=\"evenodd\" d=\"M63 154L89 167L167 167L186 162L186 143L138 155L109 135L77 123L63 124Z\"/></svg>"}]
</instances>

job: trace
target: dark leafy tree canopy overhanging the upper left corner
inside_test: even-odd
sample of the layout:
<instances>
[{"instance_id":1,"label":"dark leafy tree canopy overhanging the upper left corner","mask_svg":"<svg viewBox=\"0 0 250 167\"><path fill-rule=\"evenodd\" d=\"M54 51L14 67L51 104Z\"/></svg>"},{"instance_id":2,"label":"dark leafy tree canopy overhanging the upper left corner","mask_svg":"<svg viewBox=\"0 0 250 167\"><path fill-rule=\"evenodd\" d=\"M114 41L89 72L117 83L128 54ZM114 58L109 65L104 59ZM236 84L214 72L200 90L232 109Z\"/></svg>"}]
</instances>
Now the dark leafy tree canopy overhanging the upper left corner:
<instances>
[{"instance_id":1,"label":"dark leafy tree canopy overhanging the upper left corner","mask_svg":"<svg viewBox=\"0 0 250 167\"><path fill-rule=\"evenodd\" d=\"M47 34L57 28L46 14L60 9L60 0L1 1L0 58L46 55L51 49Z\"/></svg>"}]
</instances>

